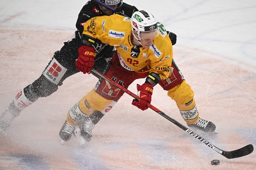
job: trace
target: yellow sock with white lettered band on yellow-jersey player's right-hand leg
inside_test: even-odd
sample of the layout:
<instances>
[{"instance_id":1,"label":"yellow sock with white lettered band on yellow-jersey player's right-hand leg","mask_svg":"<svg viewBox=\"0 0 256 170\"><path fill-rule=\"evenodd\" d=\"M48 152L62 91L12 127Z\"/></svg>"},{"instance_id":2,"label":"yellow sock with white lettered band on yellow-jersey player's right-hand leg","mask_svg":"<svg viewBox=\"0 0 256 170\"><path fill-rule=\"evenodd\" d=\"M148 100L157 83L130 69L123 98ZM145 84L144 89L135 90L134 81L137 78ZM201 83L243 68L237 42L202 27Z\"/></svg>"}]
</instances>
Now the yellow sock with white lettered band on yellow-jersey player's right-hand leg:
<instances>
[{"instance_id":1,"label":"yellow sock with white lettered band on yellow-jersey player's right-hand leg","mask_svg":"<svg viewBox=\"0 0 256 170\"><path fill-rule=\"evenodd\" d=\"M175 100L181 116L187 123L194 124L198 121L199 112L194 100L194 92L186 81L168 90L168 96Z\"/></svg>"}]
</instances>

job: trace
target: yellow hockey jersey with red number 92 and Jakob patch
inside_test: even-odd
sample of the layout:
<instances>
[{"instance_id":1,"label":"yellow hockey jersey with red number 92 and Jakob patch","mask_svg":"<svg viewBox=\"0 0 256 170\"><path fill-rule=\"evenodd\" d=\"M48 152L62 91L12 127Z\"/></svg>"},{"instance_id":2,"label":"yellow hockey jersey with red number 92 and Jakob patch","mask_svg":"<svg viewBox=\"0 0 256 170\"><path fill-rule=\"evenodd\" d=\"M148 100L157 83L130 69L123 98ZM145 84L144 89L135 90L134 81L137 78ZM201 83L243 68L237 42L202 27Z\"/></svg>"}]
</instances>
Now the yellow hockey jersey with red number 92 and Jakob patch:
<instances>
[{"instance_id":1,"label":"yellow hockey jersey with red number 92 and Jakob patch","mask_svg":"<svg viewBox=\"0 0 256 170\"><path fill-rule=\"evenodd\" d=\"M125 69L140 73L155 72L161 79L166 79L172 72L172 42L161 23L158 23L157 31L159 35L150 48L136 46L131 39L131 18L114 14L91 18L84 25L83 34L114 46Z\"/></svg>"}]
</instances>

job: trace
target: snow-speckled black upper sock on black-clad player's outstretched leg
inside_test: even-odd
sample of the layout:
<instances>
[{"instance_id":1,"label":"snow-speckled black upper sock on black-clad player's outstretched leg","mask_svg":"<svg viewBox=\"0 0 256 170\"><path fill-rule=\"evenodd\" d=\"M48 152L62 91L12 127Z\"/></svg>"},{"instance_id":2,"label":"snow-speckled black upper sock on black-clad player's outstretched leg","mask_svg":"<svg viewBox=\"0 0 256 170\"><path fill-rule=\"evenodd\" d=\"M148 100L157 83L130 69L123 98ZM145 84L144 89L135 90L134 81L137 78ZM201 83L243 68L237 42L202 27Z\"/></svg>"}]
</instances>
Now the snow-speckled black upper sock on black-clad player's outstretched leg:
<instances>
[{"instance_id":1,"label":"snow-speckled black upper sock on black-clad player's outstretched leg","mask_svg":"<svg viewBox=\"0 0 256 170\"><path fill-rule=\"evenodd\" d=\"M24 94L29 101L34 102L40 97L50 96L58 90L58 85L49 81L42 74L40 78L24 88Z\"/></svg>"}]
</instances>

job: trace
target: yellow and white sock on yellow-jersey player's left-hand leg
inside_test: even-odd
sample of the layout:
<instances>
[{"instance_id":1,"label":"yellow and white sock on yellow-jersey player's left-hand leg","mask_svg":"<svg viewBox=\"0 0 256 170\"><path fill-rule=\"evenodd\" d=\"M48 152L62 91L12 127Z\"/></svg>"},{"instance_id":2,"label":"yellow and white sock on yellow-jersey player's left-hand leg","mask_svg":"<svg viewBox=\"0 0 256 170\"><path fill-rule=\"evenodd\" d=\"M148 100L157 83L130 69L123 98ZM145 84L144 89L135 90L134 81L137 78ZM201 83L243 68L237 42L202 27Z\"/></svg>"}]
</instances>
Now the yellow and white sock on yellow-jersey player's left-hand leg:
<instances>
[{"instance_id":1,"label":"yellow and white sock on yellow-jersey player's left-hand leg","mask_svg":"<svg viewBox=\"0 0 256 170\"><path fill-rule=\"evenodd\" d=\"M67 122L77 126L78 121L93 113L105 114L116 104L116 101L104 99L94 89L76 103L68 112ZM103 115L101 115L103 117ZM97 121L98 122L98 121Z\"/></svg>"}]
</instances>

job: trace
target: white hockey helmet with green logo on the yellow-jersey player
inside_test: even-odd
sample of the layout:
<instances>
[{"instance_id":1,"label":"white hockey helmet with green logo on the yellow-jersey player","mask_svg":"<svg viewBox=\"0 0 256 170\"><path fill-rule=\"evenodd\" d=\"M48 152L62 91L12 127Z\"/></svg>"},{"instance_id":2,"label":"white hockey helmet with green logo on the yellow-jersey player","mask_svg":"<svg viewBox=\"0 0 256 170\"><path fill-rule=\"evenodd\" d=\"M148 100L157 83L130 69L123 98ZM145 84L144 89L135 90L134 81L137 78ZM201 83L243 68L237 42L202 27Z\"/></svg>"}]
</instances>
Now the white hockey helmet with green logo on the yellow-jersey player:
<instances>
[{"instance_id":1,"label":"white hockey helmet with green logo on the yellow-jersey player","mask_svg":"<svg viewBox=\"0 0 256 170\"><path fill-rule=\"evenodd\" d=\"M132 31L136 31L139 36L140 32L149 32L157 30L157 21L148 11L136 11L131 18Z\"/></svg>"}]
</instances>

